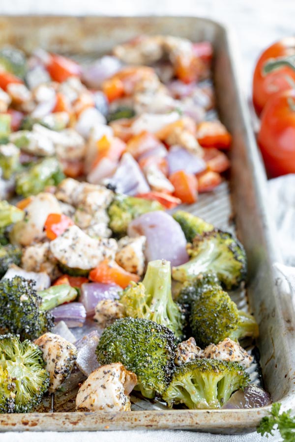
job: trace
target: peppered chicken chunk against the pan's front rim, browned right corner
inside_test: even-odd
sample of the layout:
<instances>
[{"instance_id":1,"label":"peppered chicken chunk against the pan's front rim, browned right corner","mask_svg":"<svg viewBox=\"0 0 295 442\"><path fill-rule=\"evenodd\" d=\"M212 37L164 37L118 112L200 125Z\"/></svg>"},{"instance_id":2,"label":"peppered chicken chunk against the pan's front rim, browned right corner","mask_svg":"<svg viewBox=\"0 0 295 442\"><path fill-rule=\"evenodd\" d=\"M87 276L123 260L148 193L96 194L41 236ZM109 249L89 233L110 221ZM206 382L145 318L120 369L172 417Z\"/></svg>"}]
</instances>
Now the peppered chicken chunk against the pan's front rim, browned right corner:
<instances>
[{"instance_id":1,"label":"peppered chicken chunk against the pan's front rim, browned right corner","mask_svg":"<svg viewBox=\"0 0 295 442\"><path fill-rule=\"evenodd\" d=\"M129 393L137 377L120 362L103 365L93 371L76 397L77 411L130 411Z\"/></svg>"}]
</instances>

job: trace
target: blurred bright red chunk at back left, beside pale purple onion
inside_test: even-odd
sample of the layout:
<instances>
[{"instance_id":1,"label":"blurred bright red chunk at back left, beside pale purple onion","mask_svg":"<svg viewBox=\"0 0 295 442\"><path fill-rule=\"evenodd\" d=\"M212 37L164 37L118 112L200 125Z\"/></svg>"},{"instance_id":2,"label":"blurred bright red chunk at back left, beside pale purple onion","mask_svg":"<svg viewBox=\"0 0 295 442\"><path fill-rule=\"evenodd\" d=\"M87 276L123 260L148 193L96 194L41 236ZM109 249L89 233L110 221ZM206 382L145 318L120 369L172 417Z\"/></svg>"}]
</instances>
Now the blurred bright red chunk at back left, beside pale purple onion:
<instances>
[{"instance_id":1,"label":"blurred bright red chunk at back left, beside pale purple onion","mask_svg":"<svg viewBox=\"0 0 295 442\"><path fill-rule=\"evenodd\" d=\"M69 77L80 77L82 72L78 63L57 54L51 54L47 70L52 80L59 83L64 82Z\"/></svg>"}]
</instances>

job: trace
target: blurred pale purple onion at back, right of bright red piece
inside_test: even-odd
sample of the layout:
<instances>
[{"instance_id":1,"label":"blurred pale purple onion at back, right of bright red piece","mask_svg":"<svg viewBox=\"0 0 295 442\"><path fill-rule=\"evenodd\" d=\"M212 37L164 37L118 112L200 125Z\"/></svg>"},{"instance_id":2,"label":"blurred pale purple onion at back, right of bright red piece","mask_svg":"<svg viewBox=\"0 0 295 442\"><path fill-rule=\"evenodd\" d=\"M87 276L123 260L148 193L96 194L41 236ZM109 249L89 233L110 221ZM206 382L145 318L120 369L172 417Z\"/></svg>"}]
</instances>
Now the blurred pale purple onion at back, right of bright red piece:
<instances>
[{"instance_id":1,"label":"blurred pale purple onion at back, right of bright red piece","mask_svg":"<svg viewBox=\"0 0 295 442\"><path fill-rule=\"evenodd\" d=\"M82 79L88 87L97 89L104 80L112 77L122 67L118 58L105 55L83 70Z\"/></svg>"}]
</instances>

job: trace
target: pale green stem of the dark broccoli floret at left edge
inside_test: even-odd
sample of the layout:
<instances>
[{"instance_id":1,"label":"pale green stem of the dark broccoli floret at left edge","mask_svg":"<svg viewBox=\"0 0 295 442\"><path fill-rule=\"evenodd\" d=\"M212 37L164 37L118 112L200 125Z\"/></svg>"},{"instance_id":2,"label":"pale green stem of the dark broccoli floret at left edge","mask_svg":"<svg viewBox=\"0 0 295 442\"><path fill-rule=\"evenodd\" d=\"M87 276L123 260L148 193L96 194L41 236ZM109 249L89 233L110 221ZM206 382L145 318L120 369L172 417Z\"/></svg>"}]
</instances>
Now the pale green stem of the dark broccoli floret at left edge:
<instances>
[{"instance_id":1,"label":"pale green stem of the dark broccoli floret at left edge","mask_svg":"<svg viewBox=\"0 0 295 442\"><path fill-rule=\"evenodd\" d=\"M68 284L53 285L46 290L38 291L42 298L41 310L51 310L60 304L69 303L77 298L77 290Z\"/></svg>"}]
</instances>

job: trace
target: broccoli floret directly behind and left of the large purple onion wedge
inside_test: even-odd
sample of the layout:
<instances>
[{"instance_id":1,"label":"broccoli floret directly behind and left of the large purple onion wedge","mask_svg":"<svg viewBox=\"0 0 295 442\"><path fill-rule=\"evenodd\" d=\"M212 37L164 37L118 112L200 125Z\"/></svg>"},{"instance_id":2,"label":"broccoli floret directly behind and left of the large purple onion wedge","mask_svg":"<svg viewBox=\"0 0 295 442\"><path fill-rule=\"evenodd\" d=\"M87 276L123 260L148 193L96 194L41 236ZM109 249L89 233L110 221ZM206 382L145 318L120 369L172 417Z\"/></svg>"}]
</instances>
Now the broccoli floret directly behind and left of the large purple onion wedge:
<instances>
[{"instance_id":1,"label":"broccoli floret directly behind and left of the large purple onion wedge","mask_svg":"<svg viewBox=\"0 0 295 442\"><path fill-rule=\"evenodd\" d=\"M164 207L158 201L118 194L108 208L109 227L115 235L122 237L126 235L128 224L134 218L147 212L163 209Z\"/></svg>"}]
</instances>

